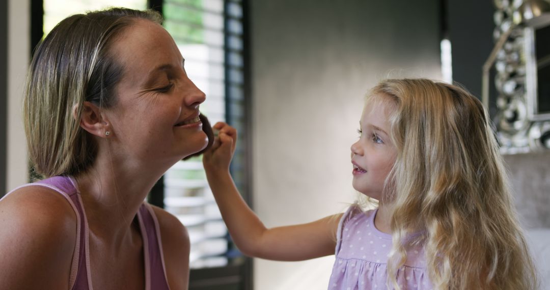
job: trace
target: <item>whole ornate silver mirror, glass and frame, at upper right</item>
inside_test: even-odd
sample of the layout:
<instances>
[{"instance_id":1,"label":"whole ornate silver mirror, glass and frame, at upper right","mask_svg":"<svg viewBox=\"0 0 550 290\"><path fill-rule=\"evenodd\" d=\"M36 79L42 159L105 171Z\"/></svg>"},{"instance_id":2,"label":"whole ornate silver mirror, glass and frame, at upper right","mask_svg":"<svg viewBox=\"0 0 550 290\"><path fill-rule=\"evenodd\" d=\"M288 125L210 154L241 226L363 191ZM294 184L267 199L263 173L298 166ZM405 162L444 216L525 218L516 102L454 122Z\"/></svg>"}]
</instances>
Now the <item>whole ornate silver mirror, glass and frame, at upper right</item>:
<instances>
[{"instance_id":1,"label":"whole ornate silver mirror, glass and frame, at upper right","mask_svg":"<svg viewBox=\"0 0 550 290\"><path fill-rule=\"evenodd\" d=\"M483 65L483 103L489 70L496 76L497 136L505 154L550 149L550 3L495 0L496 44Z\"/></svg>"}]
</instances>

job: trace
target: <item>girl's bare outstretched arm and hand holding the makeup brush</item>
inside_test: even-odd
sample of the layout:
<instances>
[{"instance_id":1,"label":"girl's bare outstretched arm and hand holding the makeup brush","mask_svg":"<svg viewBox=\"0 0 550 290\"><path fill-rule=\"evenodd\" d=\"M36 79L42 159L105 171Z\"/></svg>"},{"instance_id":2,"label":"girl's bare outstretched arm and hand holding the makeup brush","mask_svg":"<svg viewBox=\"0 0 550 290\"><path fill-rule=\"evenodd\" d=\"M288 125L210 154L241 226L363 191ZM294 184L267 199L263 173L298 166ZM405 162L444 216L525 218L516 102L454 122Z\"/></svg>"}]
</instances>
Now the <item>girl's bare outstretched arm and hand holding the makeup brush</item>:
<instances>
[{"instance_id":1,"label":"girl's bare outstretched arm and hand holding the makeup brush","mask_svg":"<svg viewBox=\"0 0 550 290\"><path fill-rule=\"evenodd\" d=\"M342 214L294 226L266 228L244 202L229 174L237 131L218 122L219 130L211 149L203 157L208 183L223 220L237 247L257 258L297 261L334 254L336 231Z\"/></svg>"}]
</instances>

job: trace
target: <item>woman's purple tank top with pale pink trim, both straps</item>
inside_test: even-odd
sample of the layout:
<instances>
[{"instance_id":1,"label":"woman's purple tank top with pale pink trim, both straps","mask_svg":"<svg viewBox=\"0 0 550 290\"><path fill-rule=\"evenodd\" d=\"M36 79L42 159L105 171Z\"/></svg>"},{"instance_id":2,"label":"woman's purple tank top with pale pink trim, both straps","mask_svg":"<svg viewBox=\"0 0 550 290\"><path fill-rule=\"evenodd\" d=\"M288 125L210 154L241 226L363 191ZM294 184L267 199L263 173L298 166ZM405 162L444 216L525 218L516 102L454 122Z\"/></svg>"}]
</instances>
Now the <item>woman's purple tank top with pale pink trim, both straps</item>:
<instances>
[{"instance_id":1,"label":"woman's purple tank top with pale pink trim, both straps","mask_svg":"<svg viewBox=\"0 0 550 290\"><path fill-rule=\"evenodd\" d=\"M32 185L45 186L59 192L62 196L67 198L68 202L73 207L76 213L77 238L69 276L69 288L73 290L92 290L90 249L88 246L88 222L76 182L72 177L54 176L46 180L29 183L20 187ZM164 265L164 257L162 255L160 228L151 205L144 202L139 208L136 217L139 221L141 238L143 239L144 245L145 289L169 289L166 278L166 266Z\"/></svg>"}]
</instances>

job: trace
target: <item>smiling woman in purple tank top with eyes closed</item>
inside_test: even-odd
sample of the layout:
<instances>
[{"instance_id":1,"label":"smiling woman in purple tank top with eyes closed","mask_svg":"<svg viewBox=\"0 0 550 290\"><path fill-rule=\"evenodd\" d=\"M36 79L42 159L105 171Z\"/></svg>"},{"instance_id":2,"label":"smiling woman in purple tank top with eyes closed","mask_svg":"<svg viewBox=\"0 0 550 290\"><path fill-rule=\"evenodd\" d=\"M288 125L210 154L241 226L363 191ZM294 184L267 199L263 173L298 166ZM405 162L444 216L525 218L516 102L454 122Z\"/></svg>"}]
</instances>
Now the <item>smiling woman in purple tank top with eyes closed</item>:
<instances>
[{"instance_id":1,"label":"smiling woman in purple tank top with eyes closed","mask_svg":"<svg viewBox=\"0 0 550 290\"><path fill-rule=\"evenodd\" d=\"M123 8L73 15L36 49L25 132L46 180L0 201L0 289L188 288L188 233L144 199L205 149L210 126L160 23Z\"/></svg>"}]
</instances>

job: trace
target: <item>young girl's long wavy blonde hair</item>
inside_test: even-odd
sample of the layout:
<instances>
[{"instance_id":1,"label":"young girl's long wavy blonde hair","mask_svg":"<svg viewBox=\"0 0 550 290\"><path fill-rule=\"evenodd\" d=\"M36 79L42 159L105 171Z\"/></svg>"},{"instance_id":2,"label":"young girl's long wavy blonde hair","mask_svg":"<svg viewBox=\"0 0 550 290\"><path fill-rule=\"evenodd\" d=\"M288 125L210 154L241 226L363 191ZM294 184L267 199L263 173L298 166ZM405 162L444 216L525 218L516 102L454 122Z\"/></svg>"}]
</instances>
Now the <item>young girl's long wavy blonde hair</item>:
<instances>
[{"instance_id":1,"label":"young girl's long wavy blonde hair","mask_svg":"<svg viewBox=\"0 0 550 290\"><path fill-rule=\"evenodd\" d=\"M369 96L367 102L394 107L390 137L398 153L384 194L393 213L388 286L399 289L406 249L421 243L436 289L535 289L535 267L481 102L426 79L382 81Z\"/></svg>"}]
</instances>

